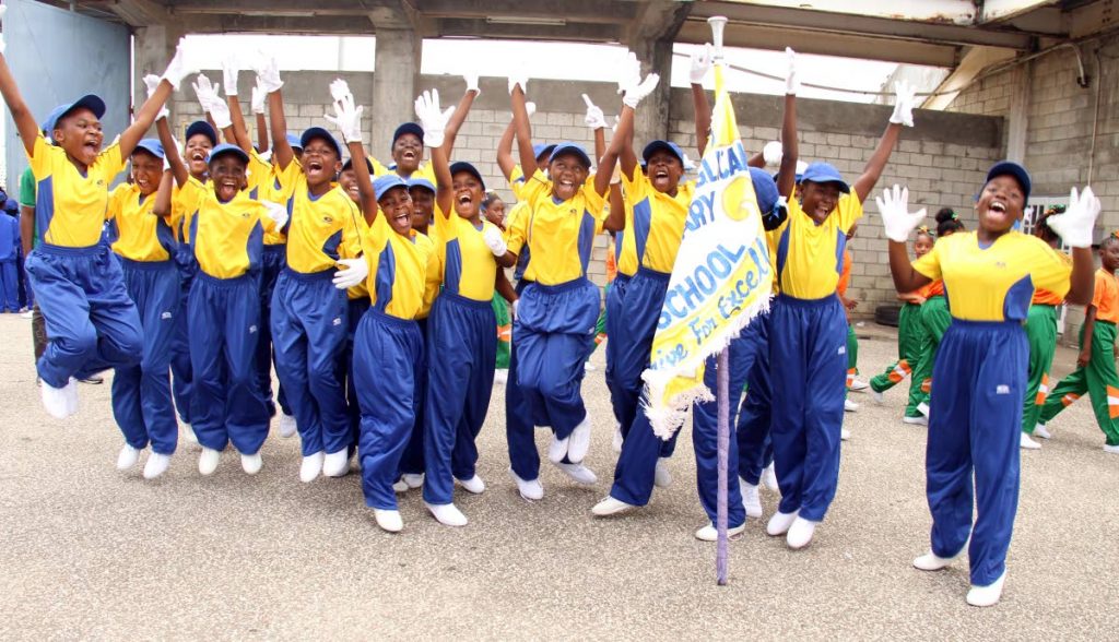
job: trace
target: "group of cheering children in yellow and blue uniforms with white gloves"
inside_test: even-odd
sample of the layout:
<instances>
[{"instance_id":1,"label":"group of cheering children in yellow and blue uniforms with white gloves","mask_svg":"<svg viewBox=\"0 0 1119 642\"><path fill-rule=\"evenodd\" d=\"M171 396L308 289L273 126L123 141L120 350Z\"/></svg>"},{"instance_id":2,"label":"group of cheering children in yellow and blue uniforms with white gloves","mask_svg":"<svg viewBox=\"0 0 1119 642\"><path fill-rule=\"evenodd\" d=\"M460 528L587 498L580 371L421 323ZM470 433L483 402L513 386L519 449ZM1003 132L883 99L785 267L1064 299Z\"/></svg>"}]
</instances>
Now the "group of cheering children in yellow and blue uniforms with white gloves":
<instances>
[{"instance_id":1,"label":"group of cheering children in yellow and blue uniforms with white gloves","mask_svg":"<svg viewBox=\"0 0 1119 642\"><path fill-rule=\"evenodd\" d=\"M703 81L713 64L709 49L692 60L700 154L711 123ZM214 124L191 124L180 148L163 108L190 73L180 44L163 76L145 78L149 98L134 123L104 148L101 98L62 105L40 126L0 55L0 93L38 190L43 243L28 257L28 272L50 339L38 361L48 413L73 415L74 379L114 368L113 412L125 438L119 468L135 465L150 446L143 474L162 474L177 446L178 414L201 445L201 474L216 470L231 442L253 474L276 413L274 362L280 432L300 436L302 481L345 475L356 454L380 528L403 528L397 493L419 487L440 522L462 526L454 485L485 490L474 442L498 360L495 310L511 309L505 405L517 489L527 500L544 497L537 427L552 432L553 464L579 483L594 483L584 463L594 422L581 384L600 333L601 295L586 272L594 237L611 232L618 274L605 301L605 378L620 454L610 494L592 512L647 504L670 480L666 460L675 438L653 434L640 406L641 372L695 190L675 143L651 141L640 157L634 151L636 111L659 78L642 78L632 55L624 60L621 114L609 144L602 110L587 101L592 158L571 142L534 144L527 78L510 77L513 119L497 160L517 204L502 219L504 204L487 192L481 173L451 160L479 94L477 77L466 78L454 108L444 111L436 92L416 98L419 122L396 130L393 163L385 166L368 154L363 107L342 81L329 87L332 113L326 116L341 142L318 126L290 135L283 81L271 59L255 65L251 111L270 135L254 145L237 98L238 72L224 69L224 98L220 85L198 77L194 87ZM727 348L737 428L730 472L740 476L728 489L730 531L742 532L747 516L760 517L759 483L772 462L781 502L767 532L794 549L811 541L838 483L848 370L839 292L846 242L902 128L913 125L915 105L912 89L900 84L876 150L848 183L828 163L799 163L798 87L790 50L782 142L753 157L758 167L750 169L773 299ZM143 139L152 125L158 140ZM767 157L780 167L775 177L760 169ZM126 162L130 180L110 190ZM1029 350L1021 323L1031 296L1043 287L1073 303L1091 299L1087 247L1098 200L1085 190L1069 213L1046 219L1074 248L1064 259L1010 230L1028 191L1024 169L999 163L977 200L979 230L962 233L955 217L940 221L935 242L922 229L912 264L905 243L923 213L911 215L908 195L896 187L878 199L895 284L911 294L901 359L872 386L882 393L913 377L906 417L929 417L933 516L932 549L914 564L943 567L970 534L975 604L997 601L1004 576L1018 465L1008 427L1017 434L1022 424ZM1119 265L1119 239L1104 244L1108 265ZM514 282L506 268L515 268ZM1088 389L1094 399L1101 386L1111 395L1113 366L1109 374L1090 367L1115 339L1119 305L1107 298L1119 284L1110 278L1097 287L1094 323L1085 330L1089 367L1056 388L1064 386L1070 398ZM509 308L495 303L495 293ZM705 377L713 390L715 372L712 360ZM931 396L922 390L928 379ZM698 494L711 521L696 531L703 540L715 539L717 405L694 408ZM1050 406L1041 410L1042 419L1053 414ZM1109 433L1109 444L1115 436Z\"/></svg>"}]
</instances>

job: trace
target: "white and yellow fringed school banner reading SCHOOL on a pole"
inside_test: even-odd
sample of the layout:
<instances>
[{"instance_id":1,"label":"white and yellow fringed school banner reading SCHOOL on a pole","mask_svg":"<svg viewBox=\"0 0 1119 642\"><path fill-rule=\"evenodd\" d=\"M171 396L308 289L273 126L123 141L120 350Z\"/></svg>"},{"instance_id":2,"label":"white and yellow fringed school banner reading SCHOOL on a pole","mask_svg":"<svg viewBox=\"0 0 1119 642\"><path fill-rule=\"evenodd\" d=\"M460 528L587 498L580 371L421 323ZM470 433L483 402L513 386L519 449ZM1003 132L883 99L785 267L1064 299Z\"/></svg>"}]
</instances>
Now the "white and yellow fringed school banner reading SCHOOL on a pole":
<instances>
[{"instance_id":1,"label":"white and yellow fringed school banner reading SCHOOL on a pole","mask_svg":"<svg viewBox=\"0 0 1119 642\"><path fill-rule=\"evenodd\" d=\"M712 134L668 283L645 379L645 412L668 440L696 400L713 399L704 361L769 306L772 273L734 106L715 66Z\"/></svg>"}]
</instances>

